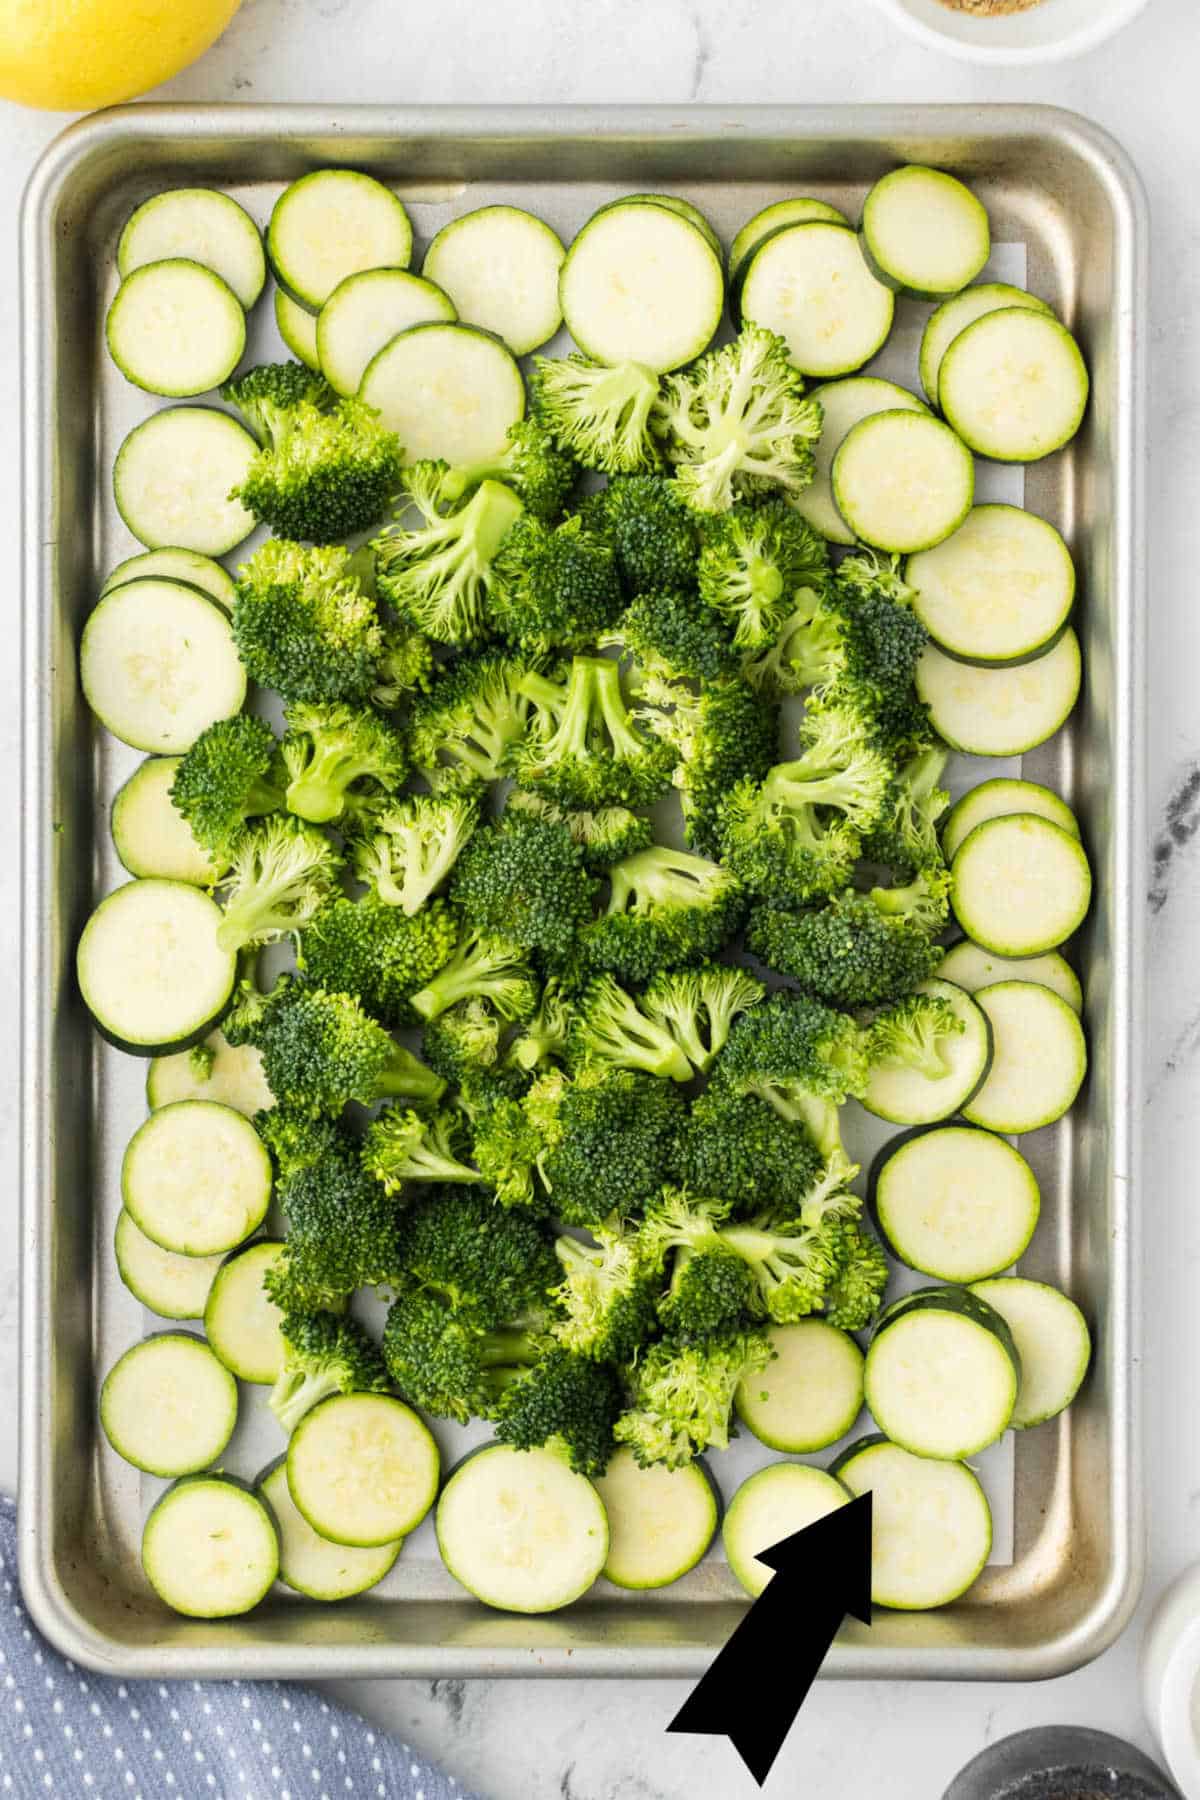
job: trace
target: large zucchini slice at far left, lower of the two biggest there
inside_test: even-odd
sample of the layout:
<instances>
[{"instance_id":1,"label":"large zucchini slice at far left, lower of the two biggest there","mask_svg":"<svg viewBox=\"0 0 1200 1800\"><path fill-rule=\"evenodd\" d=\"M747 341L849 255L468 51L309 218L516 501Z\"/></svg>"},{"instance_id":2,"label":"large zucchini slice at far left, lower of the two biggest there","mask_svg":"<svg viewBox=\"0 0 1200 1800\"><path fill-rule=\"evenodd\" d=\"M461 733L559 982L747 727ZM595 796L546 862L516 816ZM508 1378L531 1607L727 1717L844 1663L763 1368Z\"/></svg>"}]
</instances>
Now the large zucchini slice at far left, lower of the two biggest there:
<instances>
[{"instance_id":1,"label":"large zucchini slice at far left, lower of the two biggest there","mask_svg":"<svg viewBox=\"0 0 1200 1800\"><path fill-rule=\"evenodd\" d=\"M216 941L221 909L185 882L117 887L83 927L79 992L97 1030L133 1057L187 1049L228 1006L237 958Z\"/></svg>"}]
</instances>

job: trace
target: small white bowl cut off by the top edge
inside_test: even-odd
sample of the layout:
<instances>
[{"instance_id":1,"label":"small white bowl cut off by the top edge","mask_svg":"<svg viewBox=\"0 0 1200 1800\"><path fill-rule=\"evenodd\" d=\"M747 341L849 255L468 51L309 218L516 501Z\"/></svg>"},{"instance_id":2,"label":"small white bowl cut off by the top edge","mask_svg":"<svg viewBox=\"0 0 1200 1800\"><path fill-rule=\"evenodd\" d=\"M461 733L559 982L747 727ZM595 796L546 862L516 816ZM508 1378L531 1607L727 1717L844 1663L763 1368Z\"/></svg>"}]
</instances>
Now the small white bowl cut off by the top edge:
<instances>
[{"instance_id":1,"label":"small white bowl cut off by the top edge","mask_svg":"<svg viewBox=\"0 0 1200 1800\"><path fill-rule=\"evenodd\" d=\"M874 0L910 38L968 63L1058 63L1096 49L1148 0L1042 0L1027 13L981 18L943 0Z\"/></svg>"}]
</instances>

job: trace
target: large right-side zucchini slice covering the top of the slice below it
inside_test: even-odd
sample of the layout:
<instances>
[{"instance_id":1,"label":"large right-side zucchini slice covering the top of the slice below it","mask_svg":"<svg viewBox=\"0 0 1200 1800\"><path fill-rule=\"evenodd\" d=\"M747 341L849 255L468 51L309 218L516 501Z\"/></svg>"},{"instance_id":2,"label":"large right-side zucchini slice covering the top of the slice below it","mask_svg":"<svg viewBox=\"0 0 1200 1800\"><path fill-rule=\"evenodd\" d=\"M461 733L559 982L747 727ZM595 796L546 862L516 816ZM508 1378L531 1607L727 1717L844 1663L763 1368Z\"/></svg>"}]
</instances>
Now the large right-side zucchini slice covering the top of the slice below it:
<instances>
[{"instance_id":1,"label":"large right-side zucchini slice covering the top of the slice below it","mask_svg":"<svg viewBox=\"0 0 1200 1800\"><path fill-rule=\"evenodd\" d=\"M1020 506L975 506L905 571L912 610L948 657L1027 662L1051 648L1076 598L1076 567L1054 526Z\"/></svg>"}]
</instances>

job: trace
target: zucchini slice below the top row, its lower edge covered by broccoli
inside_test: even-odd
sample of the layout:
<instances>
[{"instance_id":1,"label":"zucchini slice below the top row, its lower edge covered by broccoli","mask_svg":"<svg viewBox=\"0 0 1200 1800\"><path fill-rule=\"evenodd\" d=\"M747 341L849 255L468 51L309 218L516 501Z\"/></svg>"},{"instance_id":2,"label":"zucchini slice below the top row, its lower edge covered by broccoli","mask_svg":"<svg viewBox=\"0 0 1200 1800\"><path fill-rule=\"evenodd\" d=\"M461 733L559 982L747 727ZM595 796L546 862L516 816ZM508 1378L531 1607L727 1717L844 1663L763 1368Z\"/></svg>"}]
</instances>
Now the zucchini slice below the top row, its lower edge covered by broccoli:
<instances>
[{"instance_id":1,"label":"zucchini slice below the top row, its lower edge covered by broccoli","mask_svg":"<svg viewBox=\"0 0 1200 1800\"><path fill-rule=\"evenodd\" d=\"M358 398L399 436L407 463L488 463L525 416L525 383L500 338L475 326L410 326L371 358Z\"/></svg>"}]
</instances>

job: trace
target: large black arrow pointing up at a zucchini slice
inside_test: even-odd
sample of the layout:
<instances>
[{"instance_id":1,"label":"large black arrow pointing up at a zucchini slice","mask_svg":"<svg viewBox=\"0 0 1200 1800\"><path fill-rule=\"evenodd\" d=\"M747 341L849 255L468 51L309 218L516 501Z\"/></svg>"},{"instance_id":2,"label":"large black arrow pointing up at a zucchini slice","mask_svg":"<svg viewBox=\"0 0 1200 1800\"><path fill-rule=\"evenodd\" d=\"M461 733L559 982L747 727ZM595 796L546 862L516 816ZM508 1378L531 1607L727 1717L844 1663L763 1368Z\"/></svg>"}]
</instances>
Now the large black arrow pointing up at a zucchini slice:
<instances>
[{"instance_id":1,"label":"large black arrow pointing up at a zucchini slice","mask_svg":"<svg viewBox=\"0 0 1200 1800\"><path fill-rule=\"evenodd\" d=\"M846 1615L871 1624L871 1494L757 1555L775 1575L667 1732L727 1737L761 1787Z\"/></svg>"}]
</instances>

